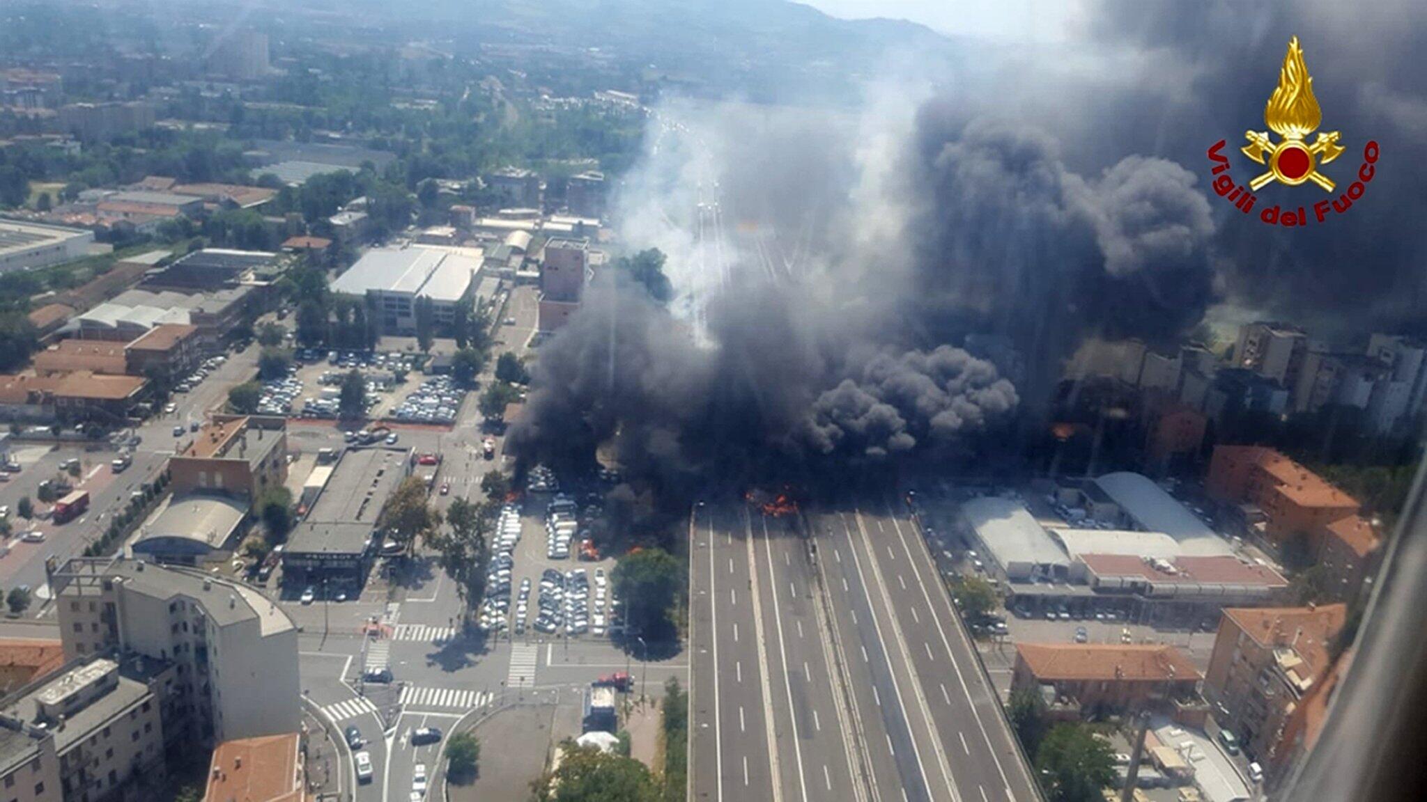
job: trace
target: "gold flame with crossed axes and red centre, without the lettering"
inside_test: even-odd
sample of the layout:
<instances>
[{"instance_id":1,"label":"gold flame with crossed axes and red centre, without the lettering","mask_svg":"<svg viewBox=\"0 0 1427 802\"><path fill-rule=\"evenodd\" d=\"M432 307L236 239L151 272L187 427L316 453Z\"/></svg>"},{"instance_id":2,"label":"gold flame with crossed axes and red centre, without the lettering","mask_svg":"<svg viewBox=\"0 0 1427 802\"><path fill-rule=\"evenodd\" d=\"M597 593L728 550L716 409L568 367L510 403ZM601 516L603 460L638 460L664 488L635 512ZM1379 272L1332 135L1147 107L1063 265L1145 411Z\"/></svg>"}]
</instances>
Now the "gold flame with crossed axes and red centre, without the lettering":
<instances>
[{"instance_id":1,"label":"gold flame with crossed axes and red centre, without the lettering","mask_svg":"<svg viewBox=\"0 0 1427 802\"><path fill-rule=\"evenodd\" d=\"M1269 171L1249 181L1249 186L1260 190L1270 181L1290 187L1313 181L1331 193L1333 181L1319 173L1317 167L1341 156L1343 147L1339 144L1339 131L1320 133L1313 144L1303 141L1323 121L1323 110L1319 98L1313 97L1313 77L1303 61L1299 37L1289 40L1289 53L1279 70L1279 87L1263 110L1263 121L1283 140L1276 144L1266 131L1244 133L1249 144L1240 148L1243 154L1269 166Z\"/></svg>"}]
</instances>

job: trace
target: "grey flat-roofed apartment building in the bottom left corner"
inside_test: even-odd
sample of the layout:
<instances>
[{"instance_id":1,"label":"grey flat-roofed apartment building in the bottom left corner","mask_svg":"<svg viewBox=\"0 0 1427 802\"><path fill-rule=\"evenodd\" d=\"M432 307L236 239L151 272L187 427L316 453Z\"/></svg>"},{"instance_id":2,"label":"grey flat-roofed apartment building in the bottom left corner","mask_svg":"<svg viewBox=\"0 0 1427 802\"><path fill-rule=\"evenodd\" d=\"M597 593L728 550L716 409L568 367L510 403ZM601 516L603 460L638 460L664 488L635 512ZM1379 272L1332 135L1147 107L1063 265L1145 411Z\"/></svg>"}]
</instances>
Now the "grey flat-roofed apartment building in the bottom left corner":
<instances>
[{"instance_id":1,"label":"grey flat-roofed apartment building in the bottom left corner","mask_svg":"<svg viewBox=\"0 0 1427 802\"><path fill-rule=\"evenodd\" d=\"M167 661L86 655L6 696L0 798L154 798L164 778L161 699L174 684Z\"/></svg>"}]
</instances>

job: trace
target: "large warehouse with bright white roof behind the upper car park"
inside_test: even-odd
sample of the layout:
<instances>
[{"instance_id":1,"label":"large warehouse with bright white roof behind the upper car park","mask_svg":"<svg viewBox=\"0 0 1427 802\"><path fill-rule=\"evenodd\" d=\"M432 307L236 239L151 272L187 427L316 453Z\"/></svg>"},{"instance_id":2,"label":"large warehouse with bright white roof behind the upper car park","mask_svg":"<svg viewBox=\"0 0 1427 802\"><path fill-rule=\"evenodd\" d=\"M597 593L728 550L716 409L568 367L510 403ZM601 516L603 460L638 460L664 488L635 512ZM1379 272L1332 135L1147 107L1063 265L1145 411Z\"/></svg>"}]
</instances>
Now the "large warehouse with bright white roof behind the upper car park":
<instances>
[{"instance_id":1,"label":"large warehouse with bright white roof behind the upper car park","mask_svg":"<svg viewBox=\"0 0 1427 802\"><path fill-rule=\"evenodd\" d=\"M367 298L382 334L411 337L421 298L438 328L451 325L457 305L471 303L482 258L479 248L374 248L332 281L332 293Z\"/></svg>"}]
</instances>

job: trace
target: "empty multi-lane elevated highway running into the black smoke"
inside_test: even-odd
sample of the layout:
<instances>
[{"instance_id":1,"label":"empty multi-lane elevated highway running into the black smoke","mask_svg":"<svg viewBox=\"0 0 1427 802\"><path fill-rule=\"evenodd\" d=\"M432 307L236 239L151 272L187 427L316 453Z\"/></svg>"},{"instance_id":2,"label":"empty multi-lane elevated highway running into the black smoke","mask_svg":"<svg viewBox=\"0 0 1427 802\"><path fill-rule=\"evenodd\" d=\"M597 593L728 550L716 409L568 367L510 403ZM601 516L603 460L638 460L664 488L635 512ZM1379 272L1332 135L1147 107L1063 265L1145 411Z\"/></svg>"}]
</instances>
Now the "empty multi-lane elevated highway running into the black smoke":
<instances>
[{"instance_id":1,"label":"empty multi-lane elevated highway running into the black smoke","mask_svg":"<svg viewBox=\"0 0 1427 802\"><path fill-rule=\"evenodd\" d=\"M916 524L892 502L692 518L692 793L1039 798Z\"/></svg>"}]
</instances>

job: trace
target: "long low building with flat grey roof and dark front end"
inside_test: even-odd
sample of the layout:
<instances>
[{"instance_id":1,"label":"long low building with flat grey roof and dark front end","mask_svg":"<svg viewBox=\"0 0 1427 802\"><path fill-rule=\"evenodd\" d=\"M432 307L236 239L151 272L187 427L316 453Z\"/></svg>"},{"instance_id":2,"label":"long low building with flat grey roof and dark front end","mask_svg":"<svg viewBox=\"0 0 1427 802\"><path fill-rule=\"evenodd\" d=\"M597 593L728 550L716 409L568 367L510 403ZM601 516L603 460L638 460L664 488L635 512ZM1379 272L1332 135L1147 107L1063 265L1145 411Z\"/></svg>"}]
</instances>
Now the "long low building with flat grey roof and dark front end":
<instances>
[{"instance_id":1,"label":"long low building with flat grey roof and dark front end","mask_svg":"<svg viewBox=\"0 0 1427 802\"><path fill-rule=\"evenodd\" d=\"M411 454L400 448L348 448L315 491L307 517L283 551L283 582L290 587L355 589L367 579L375 554L377 521L401 479L411 475ZM307 495L304 488L304 495Z\"/></svg>"}]
</instances>

